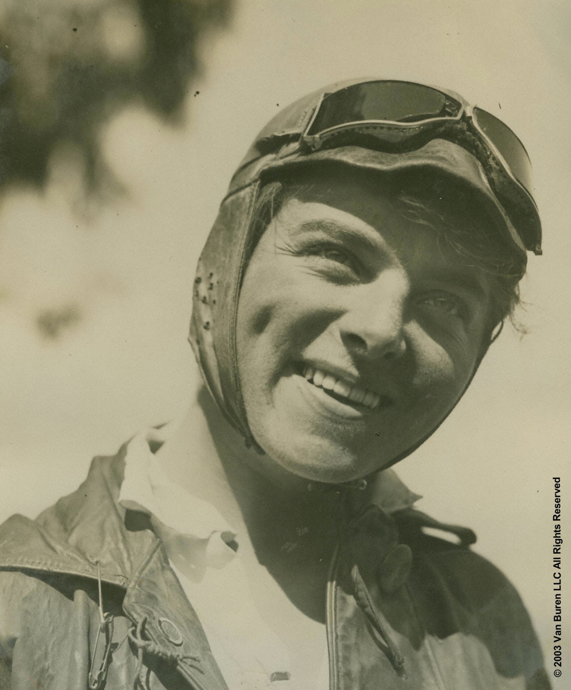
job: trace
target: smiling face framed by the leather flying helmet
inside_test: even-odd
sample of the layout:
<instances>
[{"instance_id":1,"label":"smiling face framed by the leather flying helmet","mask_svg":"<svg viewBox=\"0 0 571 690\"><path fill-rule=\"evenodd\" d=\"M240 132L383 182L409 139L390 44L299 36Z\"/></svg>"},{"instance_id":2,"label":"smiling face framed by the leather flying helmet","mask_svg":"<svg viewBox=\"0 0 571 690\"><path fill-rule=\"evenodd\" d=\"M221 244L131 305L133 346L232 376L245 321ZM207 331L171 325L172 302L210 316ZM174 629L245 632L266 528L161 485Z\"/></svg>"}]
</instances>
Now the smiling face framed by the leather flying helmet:
<instances>
[{"instance_id":1,"label":"smiling face framed by the leather flying helmet","mask_svg":"<svg viewBox=\"0 0 571 690\"><path fill-rule=\"evenodd\" d=\"M265 230L240 293L240 384L264 462L318 482L388 464L460 397L489 305L481 270L389 195L312 179Z\"/></svg>"}]
</instances>

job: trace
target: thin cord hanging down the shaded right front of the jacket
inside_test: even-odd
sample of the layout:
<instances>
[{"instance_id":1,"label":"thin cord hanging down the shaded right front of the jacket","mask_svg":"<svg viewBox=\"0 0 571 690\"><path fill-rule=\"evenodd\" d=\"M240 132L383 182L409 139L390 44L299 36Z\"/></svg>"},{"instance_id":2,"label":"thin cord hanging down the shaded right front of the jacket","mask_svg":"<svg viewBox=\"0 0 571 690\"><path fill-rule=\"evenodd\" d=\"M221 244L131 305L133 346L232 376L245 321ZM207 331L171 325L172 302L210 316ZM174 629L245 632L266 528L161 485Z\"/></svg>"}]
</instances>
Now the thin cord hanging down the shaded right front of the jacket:
<instances>
[{"instance_id":1,"label":"thin cord hanging down the shaded right front of the jacket","mask_svg":"<svg viewBox=\"0 0 571 690\"><path fill-rule=\"evenodd\" d=\"M347 489L348 488L351 487L347 487ZM387 627L377 613L371 593L365 584L365 580L362 579L359 566L354 558L353 549L351 549L349 535L347 534L347 520L345 517L345 504L347 503L348 495L347 489L340 493L338 502L337 529L339 535L340 553L342 554L342 558L345 560L345 562L348 564L352 563L350 571L351 583L353 584L353 595L358 607L365 614L367 620L371 624L371 627L373 627L373 629L378 633L381 640L385 642L386 649L383 649L383 651L385 652L385 655L387 655L389 662L391 662L391 666L399 676L403 676L405 658L400 653L394 640L391 639L391 635L389 634Z\"/></svg>"}]
</instances>

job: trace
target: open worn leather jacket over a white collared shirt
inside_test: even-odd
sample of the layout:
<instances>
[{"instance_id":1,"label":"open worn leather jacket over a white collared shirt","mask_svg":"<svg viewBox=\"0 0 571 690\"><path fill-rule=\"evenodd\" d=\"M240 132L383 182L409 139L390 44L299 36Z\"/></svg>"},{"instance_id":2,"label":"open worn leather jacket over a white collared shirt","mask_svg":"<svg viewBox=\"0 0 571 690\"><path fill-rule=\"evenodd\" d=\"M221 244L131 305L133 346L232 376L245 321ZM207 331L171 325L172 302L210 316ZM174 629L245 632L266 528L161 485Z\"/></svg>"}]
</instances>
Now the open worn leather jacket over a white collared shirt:
<instances>
[{"instance_id":1,"label":"open worn leather jacket over a white collared shirt","mask_svg":"<svg viewBox=\"0 0 571 690\"><path fill-rule=\"evenodd\" d=\"M148 517L117 502L124 453L95 458L37 520L0 527L1 690L226 689ZM391 491L346 521L332 564L331 690L548 689L519 595L467 547L473 533Z\"/></svg>"}]
</instances>

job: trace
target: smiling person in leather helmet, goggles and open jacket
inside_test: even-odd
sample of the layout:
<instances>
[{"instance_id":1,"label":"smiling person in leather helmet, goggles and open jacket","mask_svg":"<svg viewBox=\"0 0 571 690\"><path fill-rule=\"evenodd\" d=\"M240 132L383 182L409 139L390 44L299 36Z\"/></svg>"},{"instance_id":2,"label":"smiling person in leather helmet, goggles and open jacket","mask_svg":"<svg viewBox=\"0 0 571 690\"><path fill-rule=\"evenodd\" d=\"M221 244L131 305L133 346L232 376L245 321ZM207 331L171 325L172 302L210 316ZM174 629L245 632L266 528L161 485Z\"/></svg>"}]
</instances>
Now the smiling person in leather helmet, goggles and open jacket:
<instances>
[{"instance_id":1,"label":"smiling person in leather helmet, goggles and open jacket","mask_svg":"<svg viewBox=\"0 0 571 690\"><path fill-rule=\"evenodd\" d=\"M197 269L186 421L2 528L12 687L549 687L473 533L387 470L512 312L530 189L510 130L418 84L333 86L262 130Z\"/></svg>"}]
</instances>

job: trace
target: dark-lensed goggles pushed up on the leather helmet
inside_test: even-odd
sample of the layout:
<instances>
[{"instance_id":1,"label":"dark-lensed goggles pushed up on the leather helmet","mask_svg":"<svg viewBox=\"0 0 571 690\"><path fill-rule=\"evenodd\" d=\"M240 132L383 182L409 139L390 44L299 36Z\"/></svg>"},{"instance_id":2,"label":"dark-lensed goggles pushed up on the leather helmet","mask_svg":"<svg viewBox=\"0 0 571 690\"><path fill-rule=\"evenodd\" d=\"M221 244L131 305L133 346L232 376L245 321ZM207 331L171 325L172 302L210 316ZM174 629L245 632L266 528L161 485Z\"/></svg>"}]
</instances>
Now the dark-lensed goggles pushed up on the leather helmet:
<instances>
[{"instance_id":1,"label":"dark-lensed goggles pushed up on the leather helmet","mask_svg":"<svg viewBox=\"0 0 571 690\"><path fill-rule=\"evenodd\" d=\"M456 94L409 81L346 86L322 95L302 141L311 150L357 144L399 152L436 137L476 157L523 246L541 254L528 152L500 119Z\"/></svg>"}]
</instances>

